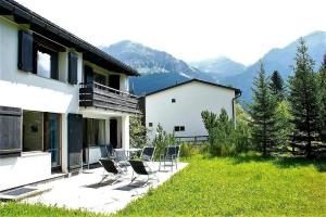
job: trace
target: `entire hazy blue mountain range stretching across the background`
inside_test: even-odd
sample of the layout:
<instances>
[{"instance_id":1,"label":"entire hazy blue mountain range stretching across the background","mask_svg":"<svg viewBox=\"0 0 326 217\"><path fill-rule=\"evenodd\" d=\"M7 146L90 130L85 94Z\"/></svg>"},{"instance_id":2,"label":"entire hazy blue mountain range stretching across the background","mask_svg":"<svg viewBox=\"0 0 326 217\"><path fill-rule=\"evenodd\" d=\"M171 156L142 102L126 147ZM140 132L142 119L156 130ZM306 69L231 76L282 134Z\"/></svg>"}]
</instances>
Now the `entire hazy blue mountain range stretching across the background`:
<instances>
[{"instance_id":1,"label":"entire hazy blue mountain range stretching across the background","mask_svg":"<svg viewBox=\"0 0 326 217\"><path fill-rule=\"evenodd\" d=\"M310 55L315 60L317 69L326 52L326 33L314 31L302 37L309 47ZM266 74L278 71L284 79L292 75L298 40L284 48L275 48L258 60L244 66L228 58L217 58L186 63L173 55L151 49L143 44L124 40L101 49L114 58L138 69L139 77L129 79L130 89L136 94L145 94L190 78L199 78L242 90L241 101L250 102L253 77L259 69L260 61L264 63Z\"/></svg>"}]
</instances>

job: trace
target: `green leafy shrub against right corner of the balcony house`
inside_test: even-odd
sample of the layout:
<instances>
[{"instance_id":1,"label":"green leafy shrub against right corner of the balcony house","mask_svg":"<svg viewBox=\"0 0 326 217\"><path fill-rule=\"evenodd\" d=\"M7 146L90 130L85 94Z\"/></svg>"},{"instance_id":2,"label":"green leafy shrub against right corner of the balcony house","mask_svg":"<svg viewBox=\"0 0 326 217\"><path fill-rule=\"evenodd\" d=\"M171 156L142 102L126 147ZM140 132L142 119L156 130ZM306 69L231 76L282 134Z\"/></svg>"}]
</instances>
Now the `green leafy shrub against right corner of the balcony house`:
<instances>
[{"instance_id":1,"label":"green leafy shrub against right corner of the balcony house","mask_svg":"<svg viewBox=\"0 0 326 217\"><path fill-rule=\"evenodd\" d=\"M130 144L134 148L143 148L148 143L148 129L141 123L142 115L130 117Z\"/></svg>"}]
</instances>

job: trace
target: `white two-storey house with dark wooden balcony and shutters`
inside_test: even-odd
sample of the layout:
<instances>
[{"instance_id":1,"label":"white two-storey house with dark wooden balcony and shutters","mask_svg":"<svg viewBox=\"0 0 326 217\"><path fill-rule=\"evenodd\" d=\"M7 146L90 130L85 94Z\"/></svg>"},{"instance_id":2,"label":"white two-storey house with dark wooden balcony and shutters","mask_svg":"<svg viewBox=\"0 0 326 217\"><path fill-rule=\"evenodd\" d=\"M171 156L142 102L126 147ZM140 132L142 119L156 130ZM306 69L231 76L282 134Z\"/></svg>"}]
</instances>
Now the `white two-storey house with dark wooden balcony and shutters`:
<instances>
[{"instance_id":1,"label":"white two-storey house with dark wooden balcony and shutters","mask_svg":"<svg viewBox=\"0 0 326 217\"><path fill-rule=\"evenodd\" d=\"M0 0L0 191L129 146L138 72L15 1Z\"/></svg>"}]
</instances>

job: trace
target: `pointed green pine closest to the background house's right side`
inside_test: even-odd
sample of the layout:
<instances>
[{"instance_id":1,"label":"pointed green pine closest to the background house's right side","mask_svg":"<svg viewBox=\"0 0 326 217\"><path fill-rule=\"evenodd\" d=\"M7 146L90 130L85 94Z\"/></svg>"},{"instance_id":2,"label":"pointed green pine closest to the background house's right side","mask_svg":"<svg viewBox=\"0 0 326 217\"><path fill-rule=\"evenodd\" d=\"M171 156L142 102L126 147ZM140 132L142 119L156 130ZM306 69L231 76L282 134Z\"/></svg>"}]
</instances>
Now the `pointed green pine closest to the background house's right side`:
<instances>
[{"instance_id":1,"label":"pointed green pine closest to the background house's right side","mask_svg":"<svg viewBox=\"0 0 326 217\"><path fill-rule=\"evenodd\" d=\"M253 86L253 103L249 106L249 114L252 118L252 138L258 151L267 156L276 145L275 111L277 103L268 87L263 63L261 63Z\"/></svg>"}]
</instances>

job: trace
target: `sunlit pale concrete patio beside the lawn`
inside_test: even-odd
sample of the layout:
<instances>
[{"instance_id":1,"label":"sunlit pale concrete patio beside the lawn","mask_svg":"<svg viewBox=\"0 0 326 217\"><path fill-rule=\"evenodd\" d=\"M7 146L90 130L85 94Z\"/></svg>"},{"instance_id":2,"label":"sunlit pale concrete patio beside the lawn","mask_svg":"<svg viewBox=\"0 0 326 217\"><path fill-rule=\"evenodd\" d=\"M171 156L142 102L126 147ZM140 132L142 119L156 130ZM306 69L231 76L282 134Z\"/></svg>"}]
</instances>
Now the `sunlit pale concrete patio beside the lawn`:
<instances>
[{"instance_id":1,"label":"sunlit pale concrete patio beside the lawn","mask_svg":"<svg viewBox=\"0 0 326 217\"><path fill-rule=\"evenodd\" d=\"M58 207L83 209L95 213L115 213L124 208L131 201L146 194L150 188L156 188L174 174L187 166L186 163L178 163L178 169L173 171L171 167L162 167L156 173L159 181L151 180L146 187L142 187L147 177L139 177L130 184L131 167L128 167L127 174L121 181L110 184L112 179L108 178L104 183L102 179L103 168L84 170L83 174L70 178L63 178L48 183L38 184L39 188L51 188L49 192L23 200L25 203L41 203ZM151 168L158 170L159 163L152 163Z\"/></svg>"}]
</instances>

